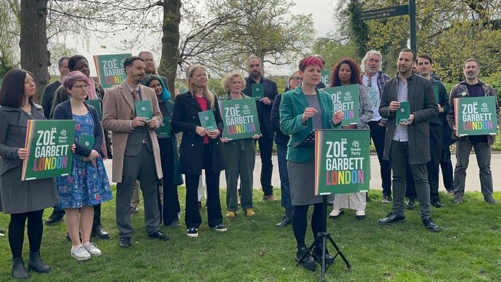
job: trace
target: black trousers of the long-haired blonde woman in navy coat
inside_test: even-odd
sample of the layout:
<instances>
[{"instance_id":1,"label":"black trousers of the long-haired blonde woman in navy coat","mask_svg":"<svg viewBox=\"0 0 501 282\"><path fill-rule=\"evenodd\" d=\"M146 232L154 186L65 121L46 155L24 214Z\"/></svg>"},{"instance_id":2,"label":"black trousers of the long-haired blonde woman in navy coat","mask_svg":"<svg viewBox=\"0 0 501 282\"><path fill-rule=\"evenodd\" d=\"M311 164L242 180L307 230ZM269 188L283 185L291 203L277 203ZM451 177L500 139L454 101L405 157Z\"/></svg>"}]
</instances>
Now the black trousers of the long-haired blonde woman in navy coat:
<instances>
[{"instance_id":1,"label":"black trousers of the long-haired blonde woman in navy coat","mask_svg":"<svg viewBox=\"0 0 501 282\"><path fill-rule=\"evenodd\" d=\"M209 144L204 144L203 169L207 187L207 220L210 228L223 223L221 201L219 200L219 176L221 172L214 172L212 168L213 153ZM184 221L186 228L199 228L202 217L198 209L198 181L200 174L186 174L186 213ZM164 195L165 198L165 195Z\"/></svg>"}]
</instances>

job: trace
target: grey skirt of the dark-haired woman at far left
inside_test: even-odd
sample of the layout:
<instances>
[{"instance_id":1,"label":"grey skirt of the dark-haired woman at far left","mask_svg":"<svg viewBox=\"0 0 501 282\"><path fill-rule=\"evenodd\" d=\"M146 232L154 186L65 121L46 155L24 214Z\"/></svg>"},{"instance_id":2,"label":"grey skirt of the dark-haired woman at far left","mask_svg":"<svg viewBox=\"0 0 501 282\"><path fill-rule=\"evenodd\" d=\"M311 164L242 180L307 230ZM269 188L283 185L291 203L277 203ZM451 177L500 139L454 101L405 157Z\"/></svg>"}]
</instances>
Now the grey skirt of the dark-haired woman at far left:
<instances>
[{"instance_id":1,"label":"grey skirt of the dark-haired woman at far left","mask_svg":"<svg viewBox=\"0 0 501 282\"><path fill-rule=\"evenodd\" d=\"M18 214L43 210L59 203L54 178L21 181L19 165L0 176L0 211Z\"/></svg>"}]
</instances>

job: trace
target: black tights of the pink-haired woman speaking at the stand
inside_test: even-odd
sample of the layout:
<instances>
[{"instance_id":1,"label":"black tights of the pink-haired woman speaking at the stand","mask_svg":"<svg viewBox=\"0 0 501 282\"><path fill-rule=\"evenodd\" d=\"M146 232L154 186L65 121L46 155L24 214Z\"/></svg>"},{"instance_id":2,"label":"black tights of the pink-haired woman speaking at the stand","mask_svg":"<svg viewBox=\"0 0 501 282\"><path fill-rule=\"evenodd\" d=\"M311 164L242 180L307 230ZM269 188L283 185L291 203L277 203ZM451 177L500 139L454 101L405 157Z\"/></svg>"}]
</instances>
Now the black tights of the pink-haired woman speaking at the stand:
<instances>
[{"instance_id":1,"label":"black tights of the pink-haired woman speaking at the stand","mask_svg":"<svg viewBox=\"0 0 501 282\"><path fill-rule=\"evenodd\" d=\"M307 215L308 208L310 205L295 205L294 213L292 216L292 229L294 230L294 236L296 237L298 248L305 247L304 237L306 236L307 228ZM324 229L324 224L322 222L322 203L313 204L313 214L312 214L312 231L313 238L317 237L318 232L322 232Z\"/></svg>"}]
</instances>

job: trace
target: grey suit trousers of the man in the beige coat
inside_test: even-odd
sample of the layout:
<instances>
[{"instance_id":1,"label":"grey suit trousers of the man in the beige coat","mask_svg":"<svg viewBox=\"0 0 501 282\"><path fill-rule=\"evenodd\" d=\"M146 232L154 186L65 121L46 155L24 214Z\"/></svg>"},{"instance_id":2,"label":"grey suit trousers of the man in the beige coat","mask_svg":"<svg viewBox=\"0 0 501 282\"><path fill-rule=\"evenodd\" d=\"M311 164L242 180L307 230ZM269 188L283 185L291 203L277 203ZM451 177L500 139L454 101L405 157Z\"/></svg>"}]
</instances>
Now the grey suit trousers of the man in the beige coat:
<instances>
[{"instance_id":1,"label":"grey suit trousers of the man in the beige coat","mask_svg":"<svg viewBox=\"0 0 501 282\"><path fill-rule=\"evenodd\" d=\"M137 156L124 156L122 182L117 183L116 216L120 237L131 237L133 228L130 224L132 208L130 200L134 183L139 180L143 191L144 225L148 234L159 230L160 211L157 201L157 175L153 154L143 144Z\"/></svg>"}]
</instances>

